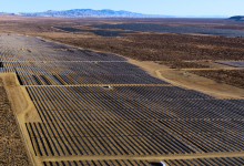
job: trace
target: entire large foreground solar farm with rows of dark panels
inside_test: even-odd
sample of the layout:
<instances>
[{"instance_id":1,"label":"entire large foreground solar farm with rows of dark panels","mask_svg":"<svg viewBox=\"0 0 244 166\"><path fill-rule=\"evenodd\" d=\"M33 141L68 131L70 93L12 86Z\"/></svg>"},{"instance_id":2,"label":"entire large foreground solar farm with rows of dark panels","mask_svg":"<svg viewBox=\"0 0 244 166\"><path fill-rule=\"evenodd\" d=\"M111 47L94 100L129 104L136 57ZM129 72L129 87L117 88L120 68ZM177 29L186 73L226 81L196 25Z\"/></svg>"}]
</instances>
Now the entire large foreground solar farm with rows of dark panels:
<instances>
[{"instance_id":1,"label":"entire large foreground solar farm with rows of dark panels","mask_svg":"<svg viewBox=\"0 0 244 166\"><path fill-rule=\"evenodd\" d=\"M1 73L16 73L41 120L24 127L43 166L244 164L244 100L175 86L118 54L34 37L1 34L0 52Z\"/></svg>"}]
</instances>

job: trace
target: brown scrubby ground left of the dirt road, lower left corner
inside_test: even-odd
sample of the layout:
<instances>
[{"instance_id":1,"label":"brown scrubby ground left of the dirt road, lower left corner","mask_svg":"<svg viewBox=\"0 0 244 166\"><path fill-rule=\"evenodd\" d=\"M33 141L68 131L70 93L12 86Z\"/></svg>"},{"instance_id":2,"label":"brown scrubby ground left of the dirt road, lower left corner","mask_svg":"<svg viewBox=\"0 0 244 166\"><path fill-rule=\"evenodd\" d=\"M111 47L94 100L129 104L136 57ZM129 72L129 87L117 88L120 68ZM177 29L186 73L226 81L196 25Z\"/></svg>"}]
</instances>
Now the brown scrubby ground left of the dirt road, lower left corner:
<instances>
[{"instance_id":1,"label":"brown scrubby ground left of the dirt road, lower left corner","mask_svg":"<svg viewBox=\"0 0 244 166\"><path fill-rule=\"evenodd\" d=\"M0 77L0 165L31 165L2 77Z\"/></svg>"}]
</instances>

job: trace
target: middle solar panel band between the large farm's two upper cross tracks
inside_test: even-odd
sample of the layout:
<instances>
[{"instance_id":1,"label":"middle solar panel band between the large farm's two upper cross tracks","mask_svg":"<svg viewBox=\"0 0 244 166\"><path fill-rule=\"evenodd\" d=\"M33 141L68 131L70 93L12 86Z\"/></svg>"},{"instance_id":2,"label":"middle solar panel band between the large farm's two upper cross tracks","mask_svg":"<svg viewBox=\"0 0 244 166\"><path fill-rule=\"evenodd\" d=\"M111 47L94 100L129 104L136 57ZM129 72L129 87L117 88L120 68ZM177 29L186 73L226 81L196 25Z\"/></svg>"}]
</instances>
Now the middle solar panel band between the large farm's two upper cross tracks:
<instances>
[{"instance_id":1,"label":"middle solar panel band between the large farm's two upper cross tracks","mask_svg":"<svg viewBox=\"0 0 244 166\"><path fill-rule=\"evenodd\" d=\"M169 84L126 62L3 62L23 85Z\"/></svg>"}]
</instances>

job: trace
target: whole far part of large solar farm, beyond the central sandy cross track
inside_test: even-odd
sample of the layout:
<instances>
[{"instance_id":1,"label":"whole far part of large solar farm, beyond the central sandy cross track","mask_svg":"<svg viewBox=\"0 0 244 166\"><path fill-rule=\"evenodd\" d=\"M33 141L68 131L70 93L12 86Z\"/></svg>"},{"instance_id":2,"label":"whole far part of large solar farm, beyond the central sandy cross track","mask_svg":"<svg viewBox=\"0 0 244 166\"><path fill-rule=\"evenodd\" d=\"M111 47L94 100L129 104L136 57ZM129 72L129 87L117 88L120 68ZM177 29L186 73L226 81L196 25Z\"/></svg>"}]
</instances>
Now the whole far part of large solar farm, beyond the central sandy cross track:
<instances>
[{"instance_id":1,"label":"whole far part of large solar farm, beyond the central sandy cross track","mask_svg":"<svg viewBox=\"0 0 244 166\"><path fill-rule=\"evenodd\" d=\"M112 53L20 35L0 43L0 72L16 72L22 85L169 84Z\"/></svg>"}]
</instances>

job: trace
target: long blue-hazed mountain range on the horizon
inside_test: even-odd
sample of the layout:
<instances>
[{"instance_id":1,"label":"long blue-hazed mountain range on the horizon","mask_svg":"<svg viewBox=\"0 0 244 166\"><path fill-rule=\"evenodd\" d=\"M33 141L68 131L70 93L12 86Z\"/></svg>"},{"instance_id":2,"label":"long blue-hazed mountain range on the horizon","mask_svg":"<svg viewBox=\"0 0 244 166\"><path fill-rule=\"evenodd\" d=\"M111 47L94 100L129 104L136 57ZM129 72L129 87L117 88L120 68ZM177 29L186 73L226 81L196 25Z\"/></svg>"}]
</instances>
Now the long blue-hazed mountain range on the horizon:
<instances>
[{"instance_id":1,"label":"long blue-hazed mountain range on the horizon","mask_svg":"<svg viewBox=\"0 0 244 166\"><path fill-rule=\"evenodd\" d=\"M26 17L53 17L53 18L173 18L171 15L142 14L130 11L73 9L64 11L48 10L44 12L22 12Z\"/></svg>"}]
</instances>

